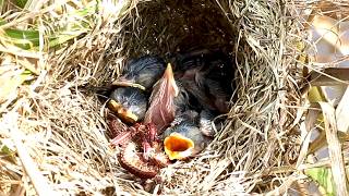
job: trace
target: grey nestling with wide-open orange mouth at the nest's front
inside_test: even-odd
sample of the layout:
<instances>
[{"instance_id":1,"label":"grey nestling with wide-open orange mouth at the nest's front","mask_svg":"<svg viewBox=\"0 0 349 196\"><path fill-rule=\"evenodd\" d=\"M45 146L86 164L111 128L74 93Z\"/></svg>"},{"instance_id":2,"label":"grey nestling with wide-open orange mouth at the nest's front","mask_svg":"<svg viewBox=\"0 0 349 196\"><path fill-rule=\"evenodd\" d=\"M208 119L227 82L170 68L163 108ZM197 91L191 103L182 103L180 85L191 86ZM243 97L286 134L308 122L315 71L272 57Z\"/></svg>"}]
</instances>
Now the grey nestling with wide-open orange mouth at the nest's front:
<instances>
[{"instance_id":1,"label":"grey nestling with wide-open orange mouth at the nest's front","mask_svg":"<svg viewBox=\"0 0 349 196\"><path fill-rule=\"evenodd\" d=\"M212 142L213 128L208 127L207 118L203 118L196 111L185 111L164 132L165 152L170 160L192 157Z\"/></svg>"}]
</instances>

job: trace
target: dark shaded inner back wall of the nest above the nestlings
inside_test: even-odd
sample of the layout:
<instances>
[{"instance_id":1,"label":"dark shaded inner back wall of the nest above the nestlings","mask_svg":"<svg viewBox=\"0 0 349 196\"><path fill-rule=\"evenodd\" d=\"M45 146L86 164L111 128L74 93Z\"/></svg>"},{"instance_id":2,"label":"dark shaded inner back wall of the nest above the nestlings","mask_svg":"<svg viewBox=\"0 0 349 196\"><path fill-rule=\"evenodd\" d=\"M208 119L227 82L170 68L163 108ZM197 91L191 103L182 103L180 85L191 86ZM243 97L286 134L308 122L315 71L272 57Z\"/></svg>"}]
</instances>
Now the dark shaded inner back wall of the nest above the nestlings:
<instances>
[{"instance_id":1,"label":"dark shaded inner back wall of the nest above the nestlings","mask_svg":"<svg viewBox=\"0 0 349 196\"><path fill-rule=\"evenodd\" d=\"M140 3L124 28L125 57L220 49L231 54L237 29L215 1L149 1ZM128 19L130 20L130 19Z\"/></svg>"}]
</instances>

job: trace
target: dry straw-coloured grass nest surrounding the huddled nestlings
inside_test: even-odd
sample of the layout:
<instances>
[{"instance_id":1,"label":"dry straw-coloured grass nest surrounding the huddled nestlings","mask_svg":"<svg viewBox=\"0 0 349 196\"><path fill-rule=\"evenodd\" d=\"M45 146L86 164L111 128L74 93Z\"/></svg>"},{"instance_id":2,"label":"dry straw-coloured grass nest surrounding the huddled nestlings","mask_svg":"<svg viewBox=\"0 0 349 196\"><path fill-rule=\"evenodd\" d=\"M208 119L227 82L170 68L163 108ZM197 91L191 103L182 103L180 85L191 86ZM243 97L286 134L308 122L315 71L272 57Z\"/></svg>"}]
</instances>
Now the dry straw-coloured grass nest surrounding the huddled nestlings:
<instances>
[{"instance_id":1,"label":"dry straw-coloured grass nest surrounding the huddled nestlings","mask_svg":"<svg viewBox=\"0 0 349 196\"><path fill-rule=\"evenodd\" d=\"M39 75L35 88L21 88L21 102L9 106L4 122L22 135L50 188L63 194L277 189L292 175L287 168L297 161L300 147L294 121L301 101L299 69L291 36L298 33L288 9L279 1L244 0L107 4L104 15L92 20L92 32L48 54L49 72ZM196 158L177 161L156 179L140 180L120 167L109 146L105 102L84 87L111 83L129 59L157 54L167 60L193 49L220 49L234 64L236 89L224 127ZM12 138L10 131L2 136ZM35 179L25 174L31 169L9 162L1 179L33 189Z\"/></svg>"}]
</instances>

